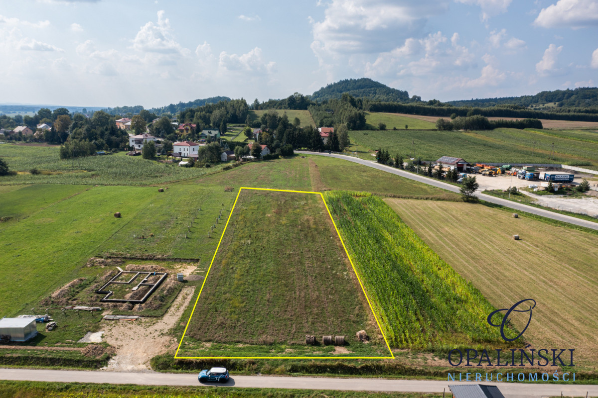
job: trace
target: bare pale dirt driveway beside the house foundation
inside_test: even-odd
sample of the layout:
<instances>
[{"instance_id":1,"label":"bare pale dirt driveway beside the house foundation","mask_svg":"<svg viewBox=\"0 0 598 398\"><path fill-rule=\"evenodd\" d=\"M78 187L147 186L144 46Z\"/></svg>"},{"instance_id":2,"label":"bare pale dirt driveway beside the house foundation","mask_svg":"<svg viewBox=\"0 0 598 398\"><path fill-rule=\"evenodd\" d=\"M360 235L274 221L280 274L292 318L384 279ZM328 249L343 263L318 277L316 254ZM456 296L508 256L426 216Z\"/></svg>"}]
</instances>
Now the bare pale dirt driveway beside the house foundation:
<instances>
[{"instance_id":1,"label":"bare pale dirt driveway beside the house foundation","mask_svg":"<svg viewBox=\"0 0 598 398\"><path fill-rule=\"evenodd\" d=\"M167 332L181 319L194 291L194 287L183 288L162 319L141 318L106 323L105 341L116 348L117 354L102 370L148 371L152 357L176 348L176 339Z\"/></svg>"}]
</instances>

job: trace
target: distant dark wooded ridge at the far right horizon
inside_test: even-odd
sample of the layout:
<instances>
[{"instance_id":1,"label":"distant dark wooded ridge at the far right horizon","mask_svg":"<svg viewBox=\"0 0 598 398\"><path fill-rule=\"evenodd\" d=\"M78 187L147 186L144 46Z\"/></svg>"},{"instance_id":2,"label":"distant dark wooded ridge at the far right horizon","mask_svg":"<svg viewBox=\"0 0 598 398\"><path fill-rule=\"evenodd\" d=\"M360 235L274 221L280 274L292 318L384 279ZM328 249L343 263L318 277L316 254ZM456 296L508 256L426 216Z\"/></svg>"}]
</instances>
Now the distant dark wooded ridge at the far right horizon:
<instances>
[{"instance_id":1,"label":"distant dark wooded ridge at the far right horizon","mask_svg":"<svg viewBox=\"0 0 598 398\"><path fill-rule=\"evenodd\" d=\"M556 105L555 105L556 103ZM536 95L521 95L521 97L476 98L475 100L448 101L453 106L490 107L496 105L548 106L556 107L598 107L598 88L581 87L575 90L542 91Z\"/></svg>"}]
</instances>

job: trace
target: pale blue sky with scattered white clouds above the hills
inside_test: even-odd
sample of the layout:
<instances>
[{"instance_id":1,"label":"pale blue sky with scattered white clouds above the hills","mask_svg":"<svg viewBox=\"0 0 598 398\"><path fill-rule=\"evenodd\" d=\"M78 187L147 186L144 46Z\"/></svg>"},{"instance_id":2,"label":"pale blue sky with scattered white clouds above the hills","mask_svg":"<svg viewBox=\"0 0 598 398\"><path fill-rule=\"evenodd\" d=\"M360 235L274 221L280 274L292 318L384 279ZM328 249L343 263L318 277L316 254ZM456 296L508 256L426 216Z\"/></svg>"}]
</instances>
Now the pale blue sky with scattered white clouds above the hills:
<instances>
[{"instance_id":1,"label":"pale blue sky with scattered white clouds above the hills","mask_svg":"<svg viewBox=\"0 0 598 398\"><path fill-rule=\"evenodd\" d=\"M0 103L251 103L364 77L441 101L596 87L598 0L0 0Z\"/></svg>"}]
</instances>

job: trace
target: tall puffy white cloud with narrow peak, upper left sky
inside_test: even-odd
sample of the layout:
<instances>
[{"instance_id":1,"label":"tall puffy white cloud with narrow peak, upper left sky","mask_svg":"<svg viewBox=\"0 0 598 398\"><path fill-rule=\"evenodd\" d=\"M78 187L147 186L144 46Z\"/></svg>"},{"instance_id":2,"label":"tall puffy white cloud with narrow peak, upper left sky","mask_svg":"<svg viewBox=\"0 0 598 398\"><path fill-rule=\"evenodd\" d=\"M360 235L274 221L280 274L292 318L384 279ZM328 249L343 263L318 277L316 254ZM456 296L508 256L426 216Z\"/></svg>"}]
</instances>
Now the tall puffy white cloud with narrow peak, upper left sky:
<instances>
[{"instance_id":1,"label":"tall puffy white cloud with narrow peak, upper left sky","mask_svg":"<svg viewBox=\"0 0 598 398\"><path fill-rule=\"evenodd\" d=\"M166 14L164 10L158 11L157 24L149 21L141 27L135 39L133 39L133 48L135 50L161 54L183 54L188 52L175 40L170 21L164 17L164 14Z\"/></svg>"}]
</instances>

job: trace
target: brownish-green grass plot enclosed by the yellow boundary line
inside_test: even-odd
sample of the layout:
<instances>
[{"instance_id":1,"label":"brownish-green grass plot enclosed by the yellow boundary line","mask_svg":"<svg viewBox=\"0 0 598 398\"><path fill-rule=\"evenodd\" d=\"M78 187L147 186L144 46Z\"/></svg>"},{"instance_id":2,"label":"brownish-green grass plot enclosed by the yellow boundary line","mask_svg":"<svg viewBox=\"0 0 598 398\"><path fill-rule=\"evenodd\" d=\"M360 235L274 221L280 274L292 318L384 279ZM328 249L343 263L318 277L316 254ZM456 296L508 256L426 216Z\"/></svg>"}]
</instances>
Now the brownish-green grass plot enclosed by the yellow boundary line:
<instances>
[{"instance_id":1,"label":"brownish-green grass plot enclosed by the yellow boundary line","mask_svg":"<svg viewBox=\"0 0 598 398\"><path fill-rule=\"evenodd\" d=\"M389 355L321 196L242 190L178 357Z\"/></svg>"}]
</instances>

